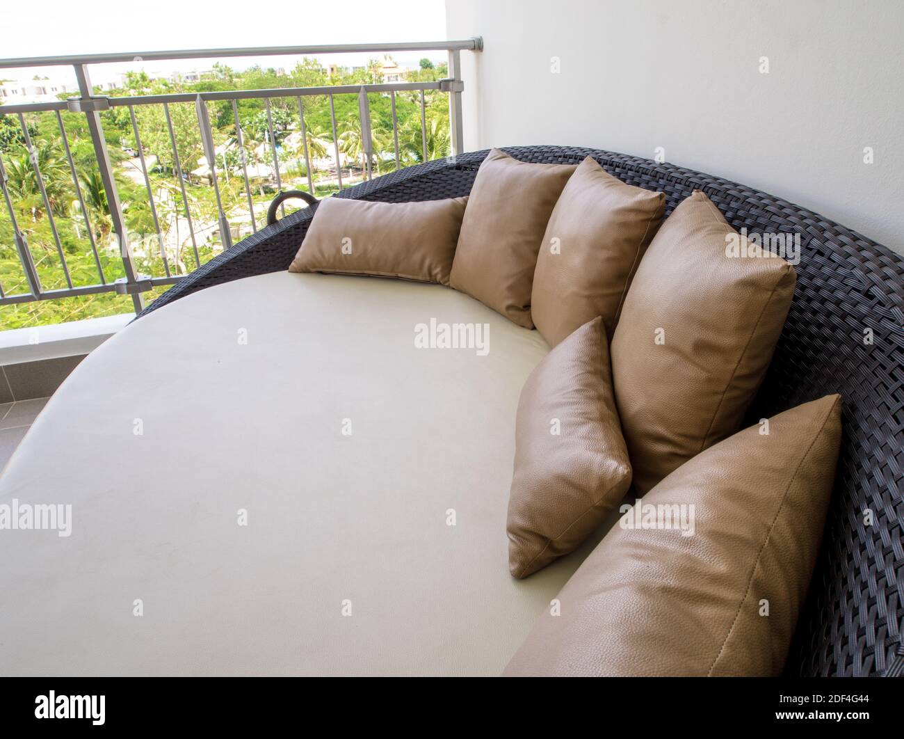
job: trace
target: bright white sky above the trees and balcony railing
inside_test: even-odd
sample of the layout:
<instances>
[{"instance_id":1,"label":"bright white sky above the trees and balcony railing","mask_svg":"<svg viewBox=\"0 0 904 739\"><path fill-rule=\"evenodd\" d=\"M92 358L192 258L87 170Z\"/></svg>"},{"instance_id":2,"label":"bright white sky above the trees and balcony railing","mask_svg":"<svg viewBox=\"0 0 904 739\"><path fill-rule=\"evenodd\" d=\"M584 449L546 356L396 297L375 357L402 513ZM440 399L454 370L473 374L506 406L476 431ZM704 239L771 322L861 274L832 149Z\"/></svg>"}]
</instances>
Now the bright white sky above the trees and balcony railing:
<instances>
[{"instance_id":1,"label":"bright white sky above the trees and balcony railing","mask_svg":"<svg viewBox=\"0 0 904 739\"><path fill-rule=\"evenodd\" d=\"M389 43L446 40L445 0L343 0L325 3L268 4L249 0L37 0L5 3L0 11L0 58L61 54L143 52L235 46L289 46L325 43ZM396 53L403 66L420 57L445 60L446 52ZM368 54L321 57L346 66L366 62ZM372 56L372 55L371 55ZM213 61L150 61L91 67L92 80L117 72L191 71L208 69ZM296 57L221 60L236 69L255 62L291 68ZM70 78L71 68L0 70L0 77Z\"/></svg>"}]
</instances>

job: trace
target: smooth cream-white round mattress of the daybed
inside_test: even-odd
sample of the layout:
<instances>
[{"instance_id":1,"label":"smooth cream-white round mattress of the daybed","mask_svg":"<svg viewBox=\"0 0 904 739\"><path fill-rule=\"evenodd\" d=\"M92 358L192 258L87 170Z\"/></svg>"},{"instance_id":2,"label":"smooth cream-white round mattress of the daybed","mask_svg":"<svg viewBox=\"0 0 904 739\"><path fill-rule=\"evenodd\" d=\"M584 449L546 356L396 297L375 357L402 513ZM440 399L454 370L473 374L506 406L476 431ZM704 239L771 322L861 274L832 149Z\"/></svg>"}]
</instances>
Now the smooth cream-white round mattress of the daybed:
<instances>
[{"instance_id":1,"label":"smooth cream-white round mattress of the daybed","mask_svg":"<svg viewBox=\"0 0 904 739\"><path fill-rule=\"evenodd\" d=\"M415 348L430 318L489 324L489 353ZM72 507L68 537L0 531L0 672L498 674L598 538L508 573L515 408L548 351L391 279L273 273L142 318L0 478L0 504Z\"/></svg>"}]
</instances>

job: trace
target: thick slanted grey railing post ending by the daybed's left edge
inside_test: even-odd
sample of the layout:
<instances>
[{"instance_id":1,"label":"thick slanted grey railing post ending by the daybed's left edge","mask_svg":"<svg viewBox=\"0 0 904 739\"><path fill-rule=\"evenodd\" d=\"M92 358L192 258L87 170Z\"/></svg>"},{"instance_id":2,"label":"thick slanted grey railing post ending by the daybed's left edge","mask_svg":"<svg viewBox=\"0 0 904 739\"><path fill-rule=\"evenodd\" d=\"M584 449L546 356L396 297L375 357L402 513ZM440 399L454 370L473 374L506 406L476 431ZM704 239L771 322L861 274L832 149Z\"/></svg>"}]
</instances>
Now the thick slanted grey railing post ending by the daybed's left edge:
<instances>
[{"instance_id":1,"label":"thick slanted grey railing post ending by the daybed's left edge","mask_svg":"<svg viewBox=\"0 0 904 739\"><path fill-rule=\"evenodd\" d=\"M88 66L86 64L76 64L74 69L76 80L79 81L81 98L72 100L70 109L81 110L88 119L88 130L91 136L91 143L94 144L94 156L98 160L100 180L103 182L104 192L107 194L107 205L110 218L113 221L113 231L116 232L119 240L119 255L122 257L123 268L126 270L125 282L118 283L117 292L130 294L132 296L132 304L135 306L135 312L140 313L145 308L145 300L142 298L141 293L146 289L150 289L150 281L139 281L135 269L135 261L132 258L132 247L128 242L126 221L122 215L122 205L119 204L116 176L113 174L113 165L110 162L107 150L107 139L104 138L104 127L100 122L99 111L106 109L108 104L106 106L103 104L106 102L106 99L103 98L92 99L93 89L91 88ZM121 289L119 289L119 285L122 286Z\"/></svg>"}]
</instances>

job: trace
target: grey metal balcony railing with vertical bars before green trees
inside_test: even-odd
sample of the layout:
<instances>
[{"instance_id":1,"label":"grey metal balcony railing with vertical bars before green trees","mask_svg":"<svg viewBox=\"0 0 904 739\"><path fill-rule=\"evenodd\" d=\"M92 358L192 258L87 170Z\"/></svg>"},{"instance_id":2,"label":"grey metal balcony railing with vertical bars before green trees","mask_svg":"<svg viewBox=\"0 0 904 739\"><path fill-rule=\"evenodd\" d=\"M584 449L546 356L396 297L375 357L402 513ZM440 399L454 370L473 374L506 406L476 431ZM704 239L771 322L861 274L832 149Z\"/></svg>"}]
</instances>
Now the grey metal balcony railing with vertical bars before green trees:
<instances>
[{"instance_id":1,"label":"grey metal balcony railing with vertical bars before green trees","mask_svg":"<svg viewBox=\"0 0 904 739\"><path fill-rule=\"evenodd\" d=\"M297 115L297 121L289 124L297 127L297 133L300 134L301 148L303 149L304 175L296 177L306 183L306 187L311 194L315 194L315 163L312 163L312 153L309 151L309 133L306 126L306 101L309 99L324 98L328 101L329 118L330 118L330 141L320 142L318 146L331 148L331 158L334 160L334 183L338 189L342 189L348 184L348 176L346 181L343 180L343 163L340 152L339 134L337 132L337 121L334 101L338 96L354 95L358 99L357 117L360 131L360 147L362 149L361 158L363 166L361 167L361 178L371 178L374 174L374 167L381 169L393 167L398 169L402 166L400 161L400 142L399 142L399 122L397 118L397 99L403 96L408 104L414 102L419 104L420 108L420 133L421 133L421 152L422 161L428 160L431 156L447 156L448 154L459 154L463 151L462 142L462 110L461 110L461 92L464 88L461 80L461 58L462 51L480 51L483 48L482 40L479 38L467 39L465 41L444 41L444 42L422 42L422 43L381 43L381 44L346 44L339 46L297 46L297 47L261 47L261 48L244 48L244 49L206 49L206 50L187 50L179 52L136 52L136 53L112 53L99 54L92 56L59 56L59 57L38 57L38 58L21 58L21 59L5 59L0 60L0 70L14 68L30 68L30 67L47 67L47 66L71 66L76 75L80 96L77 98L65 99L51 102L37 102L28 104L11 104L0 105L0 118L8 118L12 120L14 126L11 128L7 124L7 130L13 130L16 140L20 146L24 148L23 155L27 154L28 164L24 165L24 158L21 161L13 163L15 165L14 173L20 178L27 178L33 186L33 203L31 211L22 202L22 194L14 192L11 186L12 175L9 169L9 162L5 163L4 152L0 148L0 189L2 189L3 200L5 204L5 213L3 213L0 204L0 225L4 220L4 215L8 217L6 224L6 233L11 234L11 241L14 247L14 254L17 255L20 262L22 275L24 279L20 279L22 288L15 289L2 284L0 281L0 305L8 305L14 303L24 303L33 300L48 300L54 298L70 298L80 295L92 293L116 292L131 296L136 311L144 308L144 294L151 289L159 288L173 284L175 281L182 279L185 274L201 266L204 261L215 255L216 249L228 249L231 246L233 238L240 238L241 227L250 227L250 231L254 232L258 229L258 213L266 210L266 205L256 204L252 197L252 180L259 179L252 173L250 169L255 167L250 164L249 152L246 149L245 128L246 124L240 121L239 103L242 100L263 100L264 111L266 112L266 130L264 131L264 141L258 147L258 150L268 149L269 165L267 166L267 176L265 179L275 180L276 191L283 188L284 175L286 174L286 155L283 153L283 168L280 167L280 147L278 145L277 131L274 128L274 106L279 105L279 112L285 115L290 111L293 117ZM202 91L200 93L174 93L165 95L139 95L139 96L106 96L97 95L92 88L89 67L95 64L103 64L108 62L132 62L140 60L142 62L151 60L181 60L181 59L229 59L237 57L262 57L262 56L279 56L279 55L320 55L331 53L390 53L390 52L428 52L428 51L445 51L448 54L448 73L447 78L438 81L411 81L411 82L386 82L372 84L354 84L354 85L334 85L323 87L290 87L275 88L263 90L215 90ZM427 102L428 94L447 94L448 95L448 151L443 152L428 151L428 125L427 125ZM372 132L372 96L389 99L391 108L391 152L386 148L380 152L376 152L374 148L373 132ZM208 223L198 223L197 213L193 217L193 209L190 204L189 192L186 187L186 181L190 179L193 164L180 160L179 147L177 145L177 137L174 131L174 109L180 105L193 104L195 116L197 118L197 132L201 139L203 158L206 160L206 166L209 169L207 176L208 187L212 188L213 197L215 199L215 218L208 219ZM234 124L233 135L228 145L221 144L218 146L214 137L214 128L212 128L209 105L218 105L219 114L223 115L223 103L227 103L231 108L231 124ZM153 167L149 166L146 158L146 147L143 146L141 125L139 118L142 111L149 107L157 107L162 109L163 116L160 127L164 128L164 135L169 138L172 155L172 177L177 186L170 183L169 189L158 189L155 194L155 184L152 181L151 172ZM137 170L133 174L137 180L143 181L144 190L147 198L147 211L149 218L146 219L150 224L149 233L130 234L127 227L127 219L124 215L124 206L121 197L121 180L122 165L118 165L114 161L114 157L110 155L110 144L105 136L103 117L115 114L116 111L122 111L127 118L126 126L131 129L134 137L135 148L131 152L131 158L137 159L136 164L132 164L133 169ZM138 115L137 115L138 112ZM35 114L51 115L55 118L55 131L59 130L59 139L54 142L57 151L60 152L60 160L48 163L46 156L42 155L33 142L33 133L29 123L29 118L33 118ZM92 188L90 193L86 193L88 189L84 183L83 176L77 173L76 160L73 154L72 137L69 132L73 128L71 117L83 118L87 123L87 138L89 138L90 146L93 148L93 164L96 166L96 175L98 179L94 180L96 187ZM230 118L227 116L227 118ZM120 118L120 121L122 118ZM0 119L0 123L4 121ZM67 127L67 123L69 126ZM78 123L78 121L76 121ZM82 132L85 127L81 126ZM21 135L18 133L21 131ZM2 131L0 131L2 133ZM388 132L387 132L388 136ZM86 139L83 137L76 142L80 147L86 146ZM81 149L84 156L84 148ZM228 164L228 156L233 156L233 165ZM375 158L375 156L377 158ZM258 157L259 158L259 157ZM298 156L297 171L301 170L301 156ZM199 160L200 161L200 160ZM42 172L43 166L53 166L54 171L59 175L61 172L68 171L68 178L71 178L71 188L67 188L68 195L62 195L63 199L71 198L69 207L71 213L67 216L71 219L72 224L77 226L75 229L77 236L81 242L84 242L85 255L88 253L93 258L90 260L92 270L95 272L93 277L86 274L86 270L79 270L78 274L70 270L67 262L67 251L61 239L61 223L59 208L60 205L56 199L56 193L48 191L48 183L46 173ZM187 167L187 169L186 169ZM257 166L259 174L261 166ZM351 168L349 170L352 171ZM230 175L240 175L233 176ZM234 180L239 180L241 186L238 187ZM36 186L35 186L36 185ZM231 202L224 203L224 190L231 194ZM270 194L272 197L273 194ZM90 195L90 197L89 197ZM165 195L165 212L161 213L161 198ZM248 212L241 213L237 223L233 207L236 199L239 198L242 208L247 206ZM89 202L90 201L90 202ZM99 229L95 222L97 219L97 211L103 211L104 229ZM89 213L91 211L91 213ZM33 247L29 243L28 232L30 229L28 224L23 223L23 213L32 213L32 218L42 221L43 232L49 232L45 238L44 256L50 253L53 261L58 261L58 265L54 265L57 275L54 280L58 284L45 286L42 284L41 270L36 266L33 255ZM56 213L56 214L55 214ZM285 211L284 211L285 213ZM92 218L92 215L94 216ZM176 236L176 253L172 249L171 243L167 243L165 239L165 229L162 222L166 220L166 225L174 223ZM246 223L250 221L250 223ZM187 235L185 231L180 234L180 225L187 226ZM106 231L101 233L100 231ZM0 241L3 240L2 230L0 230ZM167 232L168 233L168 232ZM139 239L133 236L139 236ZM105 244L101 243L106 240ZM67 236L67 241L69 238ZM185 262L179 257L179 243L184 242L185 249L188 250L188 242L191 242L189 251L190 259ZM147 244L153 242L155 251L154 263L161 268L162 273L145 274L139 270L135 250L137 243ZM200 242L205 247L199 249ZM112 251L110 244L115 244L118 251L117 262L121 261L121 268L116 265L115 270L110 269L109 253ZM213 244L213 247L207 248L206 245ZM4 248L4 244L0 243L0 249ZM8 251L8 250L7 250ZM10 252L13 253L13 252ZM206 256L206 259L205 259ZM0 255L2 257L2 255ZM158 257L158 258L157 258ZM12 257L13 259L15 257ZM191 267L191 269L188 269ZM44 270L44 265L42 265ZM46 271L46 270L44 270ZM115 274L111 275L110 272Z\"/></svg>"}]
</instances>

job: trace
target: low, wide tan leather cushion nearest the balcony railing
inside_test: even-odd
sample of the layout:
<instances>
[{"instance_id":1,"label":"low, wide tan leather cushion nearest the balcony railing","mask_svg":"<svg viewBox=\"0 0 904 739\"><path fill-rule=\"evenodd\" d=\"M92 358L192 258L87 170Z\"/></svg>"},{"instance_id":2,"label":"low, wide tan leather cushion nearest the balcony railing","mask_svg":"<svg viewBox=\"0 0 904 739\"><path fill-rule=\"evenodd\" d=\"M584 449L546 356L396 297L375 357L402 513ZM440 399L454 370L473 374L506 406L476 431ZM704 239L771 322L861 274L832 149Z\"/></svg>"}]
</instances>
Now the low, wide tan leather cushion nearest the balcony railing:
<instances>
[{"instance_id":1,"label":"low, wide tan leather cushion nearest the balcony railing","mask_svg":"<svg viewBox=\"0 0 904 739\"><path fill-rule=\"evenodd\" d=\"M327 198L288 270L447 285L466 203L466 197L419 203Z\"/></svg>"}]
</instances>

